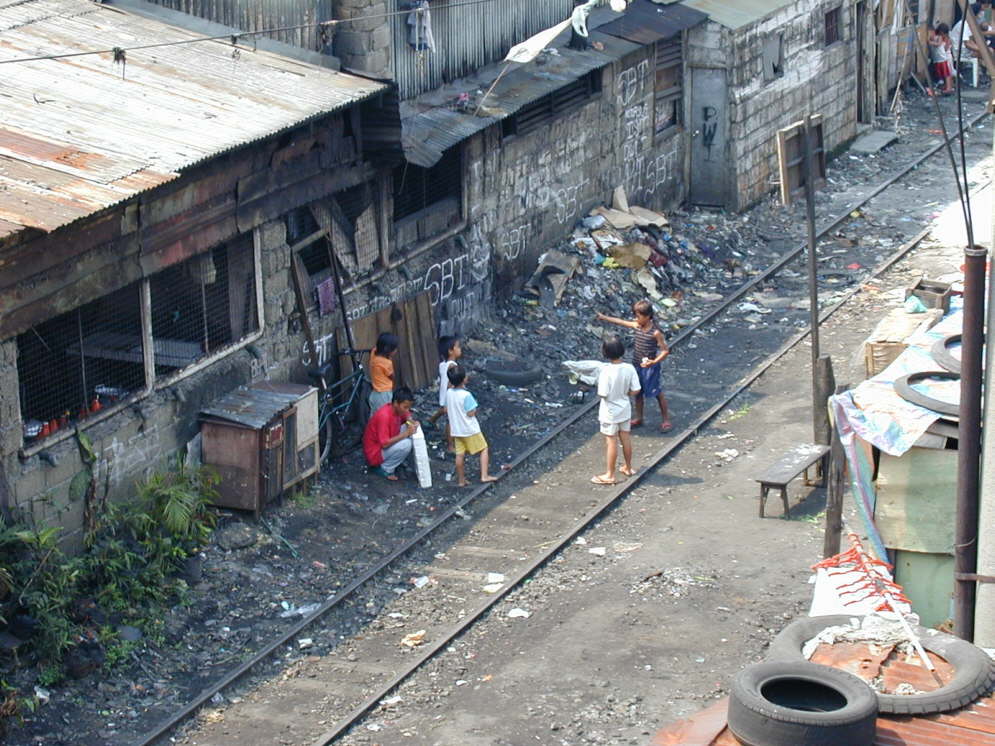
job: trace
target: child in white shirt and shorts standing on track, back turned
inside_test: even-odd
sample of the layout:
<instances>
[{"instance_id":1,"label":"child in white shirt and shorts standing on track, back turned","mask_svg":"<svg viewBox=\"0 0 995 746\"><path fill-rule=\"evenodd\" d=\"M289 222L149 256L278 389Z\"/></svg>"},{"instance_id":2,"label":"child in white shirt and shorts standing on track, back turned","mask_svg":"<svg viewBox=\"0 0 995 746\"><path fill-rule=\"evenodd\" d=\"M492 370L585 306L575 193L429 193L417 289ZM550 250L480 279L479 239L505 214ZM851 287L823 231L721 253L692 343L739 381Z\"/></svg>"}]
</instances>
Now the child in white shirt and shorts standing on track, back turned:
<instances>
[{"instance_id":1,"label":"child in white shirt and shorts standing on track, back turned","mask_svg":"<svg viewBox=\"0 0 995 746\"><path fill-rule=\"evenodd\" d=\"M601 434L605 436L607 468L604 474L591 477L591 481L594 484L615 484L615 461L618 459L616 438L622 441L622 458L625 461L619 471L627 477L635 474L632 469L632 434L629 432L629 418L632 416L629 397L635 396L642 389L636 369L631 364L622 362L625 345L618 337L606 338L601 351L608 359L608 364L598 374L598 396L601 397L598 422L601 424Z\"/></svg>"}]
</instances>

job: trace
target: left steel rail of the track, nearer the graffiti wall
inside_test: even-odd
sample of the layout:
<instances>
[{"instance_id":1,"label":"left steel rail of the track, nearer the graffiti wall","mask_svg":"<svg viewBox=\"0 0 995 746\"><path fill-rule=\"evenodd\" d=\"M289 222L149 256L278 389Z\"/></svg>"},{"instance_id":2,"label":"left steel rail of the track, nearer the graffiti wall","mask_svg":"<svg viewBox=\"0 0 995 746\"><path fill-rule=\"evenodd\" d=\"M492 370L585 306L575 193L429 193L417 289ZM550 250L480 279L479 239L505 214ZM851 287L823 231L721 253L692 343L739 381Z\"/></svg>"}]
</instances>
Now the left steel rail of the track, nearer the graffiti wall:
<instances>
[{"instance_id":1,"label":"left steel rail of the track, nearer the graffiti wall","mask_svg":"<svg viewBox=\"0 0 995 746\"><path fill-rule=\"evenodd\" d=\"M877 187L875 187L874 189L872 189L868 194L862 196L861 198L859 198L858 200L856 200L854 203L852 203L851 205L849 205L842 213L840 213L837 217L835 217L832 220L830 220L830 222L828 224L826 224L825 226L823 226L818 231L817 236L816 236L817 239L820 239L820 238L824 237L829 231L833 230L834 228L836 228L840 224L844 223L846 220L850 219L850 214L853 211L858 210L859 208L863 207L865 204L867 204L868 202L870 202L874 197L878 196L883 191L885 191L890 186L892 186L895 182L897 182L898 180L904 178L911 171L913 171L916 168L918 168L920 165L922 165L923 162L925 162L926 160L928 160L929 158L931 158L933 155L935 155L937 152L939 152L940 149L946 147L947 144L950 141L952 141L952 140L960 137L960 135L962 135L965 131L967 131L968 129L970 129L971 127L973 127L975 124L977 124L979 121L981 121L985 116L987 116L987 113L986 112L981 112L976 117L974 117L970 122L968 122L962 129L958 130L958 132L956 134L951 135L949 139L945 138L943 140L943 142L941 142L941 143L933 146L931 149L927 150L923 155L919 156L911 164L909 164L908 166L906 166L902 170L896 172L895 174L893 174L892 176L890 176L887 180L885 180L884 182L882 182L881 184L879 184ZM915 243L918 243L919 241L921 241L922 237L925 236L926 232L927 231L923 231L923 232L920 232L919 234L917 234L916 239L914 239ZM909 250L911 250L911 248L914 247L915 243L909 242L909 243L903 244L903 247L904 246L908 246L909 248L905 249L905 251L902 252L902 255L904 255L904 253L907 253ZM769 279L770 277L772 277L773 275L775 275L777 272L779 272L780 270L782 270L791 261L793 261L794 259L796 259L802 252L805 251L806 246L807 246L807 243L801 243L795 249L792 249L788 253L784 254L780 259L778 259L774 264L772 264L770 267L768 267L762 273L760 273L759 275L756 275L755 277L753 277L749 281L743 283L739 288L737 288L736 290L732 291L732 293L730 293L730 295L726 296L726 298L724 298L721 303L719 303L717 306L715 306L714 308L712 308L711 310L709 310L708 313L706 313L703 317L699 318L694 324L692 324L692 325L684 328L683 330L681 330L673 338L673 342L671 342L670 346L673 348L673 347L676 347L676 346L679 346L680 344L682 344L691 335L693 335L697 330L701 329L706 324L708 324L709 322L711 322L713 319L715 319L716 317L718 317L719 315L721 315L733 303L735 303L737 300L739 300L740 298L742 298L744 295L746 295L748 292L750 292L757 285L759 285L760 283L766 281L767 279ZM900 251L901 251L901 249L900 249ZM897 261L897 259L895 261ZM888 266L890 266L890 264ZM878 270L875 270L875 271L878 271ZM873 274L871 274L869 276L873 276ZM849 297L850 297L850 295L845 295L844 296L844 298L849 298ZM835 310L837 307L838 307L838 304L834 305L832 307L832 309ZM800 337L798 337L798 339L804 338L804 336L807 333L808 333L807 331L804 332L804 333L802 333L802 335ZM792 338L792 339L794 339L794 338ZM797 341L794 342L794 344L797 344ZM509 462L509 469L505 470L505 471L502 471L500 474L497 475L498 482L501 479L504 479L505 477L510 476L510 472L511 472L511 470L514 469L514 467L516 467L519 464L521 464L522 462L528 460L536 452L538 452L538 451L542 450L543 448L545 448L551 441L553 441L554 439L556 439L568 427L570 427L572 424L574 424L581 417L583 417L584 415L586 415L587 413L589 413L594 408L594 406L596 404L597 404L597 400L592 400L592 401L588 402L587 404L585 404L584 406L580 407L577 411L575 411L573 414L569 415L564 420L562 420L561 422L559 422L556 425L556 427L554 427L552 430L549 430L539 440L537 440L535 443L533 443L531 446L529 446L527 449L525 449L525 451L523 451L521 454L519 454L514 459L512 459L512 461ZM693 432L697 431L697 427L700 427L700 425L696 426L694 428ZM687 431L683 431L681 433L680 437L685 437L684 436L684 432L687 432ZM689 436L687 436L687 437L689 437ZM656 462L654 462L654 463L656 463ZM444 523L448 522L453 516L455 516L457 513L459 513L464 506L466 506L467 504L469 504L473 500L475 500L478 497L480 497L480 495L482 495L484 492L486 492L488 489L490 489L494 484L497 484L497 482L492 482L492 483L484 484L484 485L478 485L476 488L474 488L473 490L471 490L470 492L468 492L466 494L466 496L464 496L462 499L460 499L459 501L457 501L456 503L454 503L453 505L451 505L448 509L446 509L445 511L443 511L436 518L436 520L433 523L431 523L430 525L426 526L421 531L419 531L418 533L416 533L411 539L409 539L404 544L402 544L402 545L398 546L397 548L395 548L388 555L386 555L385 557L383 557L382 559L380 559L375 565L373 565L373 566L367 568L366 570L364 570L363 572L361 572L352 581L350 581L345 587L343 587L338 593L336 593L335 595L333 595L333 596L329 597L328 599L326 599L321 604L321 606L319 606L310 615L308 615L307 617L302 618L299 622L296 622L293 625L291 625L280 636L278 636L277 638L274 638L269 643L267 643L266 645L264 645L250 659L248 659L247 661L245 661L242 664L240 664L237 668L235 668L232 671L230 671L227 674L225 674L221 679L219 679L214 684L211 684L210 686L208 686L207 688L205 688L204 690L202 690L187 705L185 705L181 709L179 709L176 712L174 712L173 714L171 714L168 718L166 718L165 720L163 720L158 725L154 726L152 728L152 730L150 730L149 732L147 732L147 733L143 734L142 736L140 736L139 739L137 741L135 741L135 745L136 746L150 746L151 744L154 744L158 739L162 738L164 735L166 735L167 733L169 733L173 728L175 728L181 722L183 722L184 720L186 720L191 714L193 714L198 709L200 709L201 707L203 707L207 702L209 702L211 700L211 698L215 694L218 694L219 692L221 692L222 690L224 690L227 687L231 686L234 682L236 682L237 680L239 680L240 678L242 678L245 674L247 674L249 671L251 671L253 668L255 668L260 662L262 662L263 660L265 660L266 658L268 658L270 655L272 655L273 652L277 648L279 648L279 647L287 644L288 641L292 640L302 630L304 630L305 628L307 628L308 626L310 626L314 622L316 622L319 619L321 619L322 617L324 617L331 609L335 608L340 603L342 603L346 598L348 598L349 596L351 596L356 590L358 590L359 588L361 588L362 586L364 586L366 583L368 583L370 580L372 580L374 577L376 577L377 575L379 575L380 573L382 573L395 560L397 560L398 558L400 558L403 555L407 554L414 547L416 547L417 545L419 545L426 537L428 537L430 534L432 534L434 531L436 531L440 526L442 526ZM500 596L498 598L500 598ZM495 600L497 600L497 599L495 599ZM379 701L379 699L378 699L378 701ZM365 713L368 710L369 710L369 707L366 707L366 709L363 710L363 712Z\"/></svg>"}]
</instances>

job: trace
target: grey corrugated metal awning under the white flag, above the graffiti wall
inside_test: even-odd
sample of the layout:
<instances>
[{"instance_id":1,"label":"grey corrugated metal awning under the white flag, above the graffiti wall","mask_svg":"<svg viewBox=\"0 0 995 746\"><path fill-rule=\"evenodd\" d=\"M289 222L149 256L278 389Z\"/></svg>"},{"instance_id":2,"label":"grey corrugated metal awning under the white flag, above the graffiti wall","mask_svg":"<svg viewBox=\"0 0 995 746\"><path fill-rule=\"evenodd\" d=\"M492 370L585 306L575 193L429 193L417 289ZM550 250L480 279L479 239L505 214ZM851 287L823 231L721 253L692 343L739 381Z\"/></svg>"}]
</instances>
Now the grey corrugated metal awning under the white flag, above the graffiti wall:
<instances>
[{"instance_id":1,"label":"grey corrugated metal awning under the white flag, above the graffiti wall","mask_svg":"<svg viewBox=\"0 0 995 746\"><path fill-rule=\"evenodd\" d=\"M557 88L586 73L614 62L640 49L638 44L592 31L592 41L600 41L604 49L579 51L559 47L544 64L530 62L513 64L494 87L478 116L473 111L461 112L447 104L464 91L486 91L497 78L505 63L488 65L475 75L461 78L443 88L402 103L401 123L405 157L416 166L434 166L443 151L462 142L475 132L514 114Z\"/></svg>"}]
</instances>

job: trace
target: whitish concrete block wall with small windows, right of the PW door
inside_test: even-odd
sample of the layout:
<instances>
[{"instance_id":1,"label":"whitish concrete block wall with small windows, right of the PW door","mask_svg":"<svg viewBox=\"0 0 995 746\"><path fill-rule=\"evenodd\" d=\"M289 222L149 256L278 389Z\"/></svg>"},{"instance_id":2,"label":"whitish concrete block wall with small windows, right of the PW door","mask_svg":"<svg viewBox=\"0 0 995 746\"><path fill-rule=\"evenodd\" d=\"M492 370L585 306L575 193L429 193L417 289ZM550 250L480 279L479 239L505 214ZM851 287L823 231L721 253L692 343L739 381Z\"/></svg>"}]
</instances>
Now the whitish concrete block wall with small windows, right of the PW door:
<instances>
[{"instance_id":1,"label":"whitish concrete block wall with small windows, right of the PW door","mask_svg":"<svg viewBox=\"0 0 995 746\"><path fill-rule=\"evenodd\" d=\"M825 46L825 13L841 7L840 41ZM730 143L735 164L735 203L742 210L762 199L778 177L777 130L808 113L822 114L827 152L856 134L856 61L852 6L798 0L769 18L726 31L729 68ZM783 34L784 74L763 76L765 40Z\"/></svg>"}]
</instances>

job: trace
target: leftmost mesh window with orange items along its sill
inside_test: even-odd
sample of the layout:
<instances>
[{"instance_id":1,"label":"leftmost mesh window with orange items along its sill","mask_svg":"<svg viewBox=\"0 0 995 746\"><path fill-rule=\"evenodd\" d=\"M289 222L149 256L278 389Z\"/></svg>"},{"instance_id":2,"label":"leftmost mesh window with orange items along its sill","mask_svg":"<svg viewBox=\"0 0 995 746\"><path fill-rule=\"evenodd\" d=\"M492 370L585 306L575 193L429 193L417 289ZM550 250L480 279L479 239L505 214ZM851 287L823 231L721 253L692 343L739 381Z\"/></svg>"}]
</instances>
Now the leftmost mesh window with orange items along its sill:
<instances>
[{"instance_id":1,"label":"leftmost mesh window with orange items along its sill","mask_svg":"<svg viewBox=\"0 0 995 746\"><path fill-rule=\"evenodd\" d=\"M145 388L141 283L17 337L25 445Z\"/></svg>"}]
</instances>

